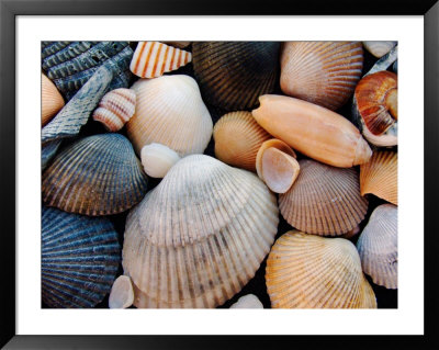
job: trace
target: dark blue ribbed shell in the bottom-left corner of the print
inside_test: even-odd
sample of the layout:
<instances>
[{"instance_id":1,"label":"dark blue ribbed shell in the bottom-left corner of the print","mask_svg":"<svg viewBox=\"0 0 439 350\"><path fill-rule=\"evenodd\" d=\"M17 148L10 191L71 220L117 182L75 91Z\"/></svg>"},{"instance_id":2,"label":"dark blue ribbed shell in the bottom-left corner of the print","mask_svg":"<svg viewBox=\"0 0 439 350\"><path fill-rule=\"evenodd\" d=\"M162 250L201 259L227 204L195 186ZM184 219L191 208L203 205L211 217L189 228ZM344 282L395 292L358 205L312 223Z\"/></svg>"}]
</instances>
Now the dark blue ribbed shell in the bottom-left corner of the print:
<instances>
[{"instance_id":1,"label":"dark blue ribbed shell in the bottom-left corner of the print","mask_svg":"<svg viewBox=\"0 0 439 350\"><path fill-rule=\"evenodd\" d=\"M49 307L94 307L121 262L117 233L105 217L42 211L42 298Z\"/></svg>"}]
</instances>

